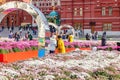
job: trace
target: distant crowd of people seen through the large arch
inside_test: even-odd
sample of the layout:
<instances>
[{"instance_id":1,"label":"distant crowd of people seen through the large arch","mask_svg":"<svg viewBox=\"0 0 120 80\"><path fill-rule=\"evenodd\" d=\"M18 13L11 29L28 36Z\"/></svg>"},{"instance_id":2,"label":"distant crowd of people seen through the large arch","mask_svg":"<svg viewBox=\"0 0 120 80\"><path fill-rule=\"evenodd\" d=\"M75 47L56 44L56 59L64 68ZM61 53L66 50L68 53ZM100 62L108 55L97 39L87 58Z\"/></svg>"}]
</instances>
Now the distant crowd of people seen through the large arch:
<instances>
[{"instance_id":1,"label":"distant crowd of people seen through the large arch","mask_svg":"<svg viewBox=\"0 0 120 80\"><path fill-rule=\"evenodd\" d=\"M18 29L18 30L16 30ZM14 39L15 41L19 41L19 40L32 40L33 39L33 35L37 35L37 26L36 27L32 27L30 25L26 25L26 26L19 26L19 27L4 27L2 26L0 29L0 33L2 33L3 31L7 31L8 33L8 38L9 39ZM2 35L0 35L2 36Z\"/></svg>"}]
</instances>

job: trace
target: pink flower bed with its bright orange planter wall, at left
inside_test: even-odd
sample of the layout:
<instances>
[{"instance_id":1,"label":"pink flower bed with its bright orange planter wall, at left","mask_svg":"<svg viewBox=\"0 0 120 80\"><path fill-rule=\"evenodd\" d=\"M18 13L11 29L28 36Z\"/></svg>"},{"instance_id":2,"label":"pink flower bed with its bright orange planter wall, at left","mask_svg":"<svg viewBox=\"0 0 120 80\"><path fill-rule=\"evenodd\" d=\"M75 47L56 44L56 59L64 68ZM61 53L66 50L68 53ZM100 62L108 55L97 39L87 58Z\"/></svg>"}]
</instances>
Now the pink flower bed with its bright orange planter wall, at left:
<instances>
[{"instance_id":1,"label":"pink flower bed with its bright orange planter wall, at left","mask_svg":"<svg viewBox=\"0 0 120 80\"><path fill-rule=\"evenodd\" d=\"M14 62L38 56L38 42L19 41L19 42L0 42L0 62Z\"/></svg>"}]
</instances>

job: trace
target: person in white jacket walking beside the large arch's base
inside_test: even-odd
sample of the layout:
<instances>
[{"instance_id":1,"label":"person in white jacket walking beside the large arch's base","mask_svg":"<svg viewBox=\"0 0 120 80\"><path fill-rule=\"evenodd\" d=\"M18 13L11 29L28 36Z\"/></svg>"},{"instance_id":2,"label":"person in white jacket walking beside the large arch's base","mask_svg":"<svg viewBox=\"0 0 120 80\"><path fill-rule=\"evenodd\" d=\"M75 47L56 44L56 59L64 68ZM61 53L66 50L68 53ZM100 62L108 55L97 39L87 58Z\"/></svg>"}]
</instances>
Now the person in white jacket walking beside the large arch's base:
<instances>
[{"instance_id":1,"label":"person in white jacket walking beside the large arch's base","mask_svg":"<svg viewBox=\"0 0 120 80\"><path fill-rule=\"evenodd\" d=\"M55 53L56 45L57 45L56 35L53 35L50 38L50 44L48 45L50 54Z\"/></svg>"}]
</instances>

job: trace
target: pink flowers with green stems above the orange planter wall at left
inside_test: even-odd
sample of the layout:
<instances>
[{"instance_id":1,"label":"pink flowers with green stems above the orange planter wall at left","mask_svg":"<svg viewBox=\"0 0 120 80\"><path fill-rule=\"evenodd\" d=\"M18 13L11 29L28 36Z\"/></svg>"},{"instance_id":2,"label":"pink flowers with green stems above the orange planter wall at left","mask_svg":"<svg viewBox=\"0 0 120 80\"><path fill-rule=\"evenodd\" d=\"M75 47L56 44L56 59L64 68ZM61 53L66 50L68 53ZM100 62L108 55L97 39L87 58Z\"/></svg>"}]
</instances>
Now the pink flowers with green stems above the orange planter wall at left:
<instances>
[{"instance_id":1,"label":"pink flowers with green stems above the orange planter wall at left","mask_svg":"<svg viewBox=\"0 0 120 80\"><path fill-rule=\"evenodd\" d=\"M6 54L10 52L20 52L27 50L37 50L38 49L38 41L6 41L0 42L0 54Z\"/></svg>"}]
</instances>

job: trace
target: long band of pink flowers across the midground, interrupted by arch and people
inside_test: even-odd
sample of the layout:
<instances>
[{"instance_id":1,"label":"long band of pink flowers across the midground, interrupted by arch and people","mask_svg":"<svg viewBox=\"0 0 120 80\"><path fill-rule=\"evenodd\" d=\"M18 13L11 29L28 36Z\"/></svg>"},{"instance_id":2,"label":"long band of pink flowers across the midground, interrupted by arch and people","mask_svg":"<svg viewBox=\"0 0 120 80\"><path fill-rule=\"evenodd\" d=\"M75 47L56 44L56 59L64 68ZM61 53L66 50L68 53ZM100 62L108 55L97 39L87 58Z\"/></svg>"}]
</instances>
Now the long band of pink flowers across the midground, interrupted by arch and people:
<instances>
[{"instance_id":1,"label":"long band of pink flowers across the midground, interrupted by arch and people","mask_svg":"<svg viewBox=\"0 0 120 80\"><path fill-rule=\"evenodd\" d=\"M64 41L66 48L91 48L97 47L98 50L117 50L116 42L107 42L106 46L101 46L100 41L76 41L76 42L67 42ZM46 44L49 44L49 40L46 40ZM38 41L1 41L0 42L0 54L6 54L10 52L21 52L28 50L37 50L38 49Z\"/></svg>"}]
</instances>

